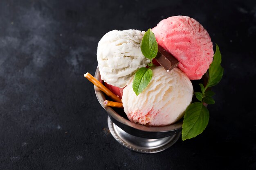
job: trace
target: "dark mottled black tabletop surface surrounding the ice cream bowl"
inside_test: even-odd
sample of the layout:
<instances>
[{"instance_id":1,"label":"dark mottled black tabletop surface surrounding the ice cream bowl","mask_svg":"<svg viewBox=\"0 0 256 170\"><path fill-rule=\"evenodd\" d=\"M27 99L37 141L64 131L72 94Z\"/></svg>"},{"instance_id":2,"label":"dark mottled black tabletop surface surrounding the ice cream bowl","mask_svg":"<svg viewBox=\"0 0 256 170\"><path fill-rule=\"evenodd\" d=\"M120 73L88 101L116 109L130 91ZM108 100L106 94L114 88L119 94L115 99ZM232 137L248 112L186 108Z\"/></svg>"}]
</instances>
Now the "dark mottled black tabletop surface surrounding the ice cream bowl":
<instances>
[{"instance_id":1,"label":"dark mottled black tabletop surface surrounding the ice cream bowl","mask_svg":"<svg viewBox=\"0 0 256 170\"><path fill-rule=\"evenodd\" d=\"M83 77L113 29L148 30L186 15L222 52L206 130L156 154L128 150ZM0 0L0 170L255 169L254 0Z\"/></svg>"}]
</instances>

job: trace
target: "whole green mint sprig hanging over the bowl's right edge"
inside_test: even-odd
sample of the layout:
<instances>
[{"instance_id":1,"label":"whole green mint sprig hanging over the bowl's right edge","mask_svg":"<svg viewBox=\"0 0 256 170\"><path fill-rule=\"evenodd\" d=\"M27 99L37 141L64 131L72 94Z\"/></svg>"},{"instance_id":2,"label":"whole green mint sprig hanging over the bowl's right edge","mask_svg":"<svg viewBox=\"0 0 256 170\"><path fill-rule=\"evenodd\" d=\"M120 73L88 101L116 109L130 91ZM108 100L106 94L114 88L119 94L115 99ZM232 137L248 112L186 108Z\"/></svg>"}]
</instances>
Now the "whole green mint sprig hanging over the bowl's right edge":
<instances>
[{"instance_id":1,"label":"whole green mint sprig hanging over the bowl's right edge","mask_svg":"<svg viewBox=\"0 0 256 170\"><path fill-rule=\"evenodd\" d=\"M213 56L213 62L209 67L209 79L207 85L199 84L201 92L195 92L195 97L200 102L191 103L185 110L184 120L182 124L182 140L191 139L201 134L209 122L209 110L203 105L214 104L215 101L211 98L215 93L209 90L209 87L217 85L223 75L223 68L220 65L221 54L218 45Z\"/></svg>"}]
</instances>

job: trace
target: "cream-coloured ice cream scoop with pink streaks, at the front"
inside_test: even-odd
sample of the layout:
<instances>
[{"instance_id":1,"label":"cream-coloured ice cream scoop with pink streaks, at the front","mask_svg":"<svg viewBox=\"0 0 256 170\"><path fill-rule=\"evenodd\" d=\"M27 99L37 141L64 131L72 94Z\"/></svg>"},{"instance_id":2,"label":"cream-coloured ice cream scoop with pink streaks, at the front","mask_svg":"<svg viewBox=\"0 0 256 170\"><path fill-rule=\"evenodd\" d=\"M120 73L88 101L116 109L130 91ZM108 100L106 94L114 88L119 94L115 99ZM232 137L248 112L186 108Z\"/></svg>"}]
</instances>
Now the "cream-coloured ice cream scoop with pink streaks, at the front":
<instances>
[{"instance_id":1,"label":"cream-coloured ice cream scoop with pink streaks, at the front","mask_svg":"<svg viewBox=\"0 0 256 170\"><path fill-rule=\"evenodd\" d=\"M150 126L172 124L184 116L193 97L188 76L178 68L166 72L161 66L152 67L153 77L136 96L132 83L123 90L124 111L131 122Z\"/></svg>"}]
</instances>

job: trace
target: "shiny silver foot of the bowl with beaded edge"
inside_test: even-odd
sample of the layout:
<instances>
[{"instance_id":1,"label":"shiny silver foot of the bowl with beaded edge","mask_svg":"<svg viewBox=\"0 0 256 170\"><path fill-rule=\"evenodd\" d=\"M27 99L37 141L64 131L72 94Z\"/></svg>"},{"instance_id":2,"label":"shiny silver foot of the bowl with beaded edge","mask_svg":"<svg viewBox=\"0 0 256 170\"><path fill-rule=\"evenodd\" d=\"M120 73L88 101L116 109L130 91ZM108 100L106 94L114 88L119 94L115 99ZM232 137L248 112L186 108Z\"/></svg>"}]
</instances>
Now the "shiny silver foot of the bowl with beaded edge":
<instances>
[{"instance_id":1,"label":"shiny silver foot of the bowl with beaded edge","mask_svg":"<svg viewBox=\"0 0 256 170\"><path fill-rule=\"evenodd\" d=\"M108 117L108 129L122 146L139 153L157 153L171 147L179 139L181 132L169 137L148 139L126 133Z\"/></svg>"}]
</instances>

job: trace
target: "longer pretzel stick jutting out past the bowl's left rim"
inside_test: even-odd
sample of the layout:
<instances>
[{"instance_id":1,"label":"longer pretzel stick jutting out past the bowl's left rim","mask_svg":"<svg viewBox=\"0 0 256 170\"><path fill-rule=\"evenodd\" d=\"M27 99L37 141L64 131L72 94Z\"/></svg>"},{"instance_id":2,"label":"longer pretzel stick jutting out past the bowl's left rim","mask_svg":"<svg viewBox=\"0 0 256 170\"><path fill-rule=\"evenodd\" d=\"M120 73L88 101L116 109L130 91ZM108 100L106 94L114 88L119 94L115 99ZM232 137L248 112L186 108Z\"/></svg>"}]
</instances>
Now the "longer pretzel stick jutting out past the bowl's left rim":
<instances>
[{"instance_id":1,"label":"longer pretzel stick jutting out past the bowl's left rim","mask_svg":"<svg viewBox=\"0 0 256 170\"><path fill-rule=\"evenodd\" d=\"M102 92L104 92L107 96L115 100L116 102L122 102L119 97L117 97L114 93L112 93L107 87L105 87L101 82L99 82L94 76L92 76L90 73L83 74L85 78L87 78L90 82L92 82L94 85L96 85Z\"/></svg>"}]
</instances>

